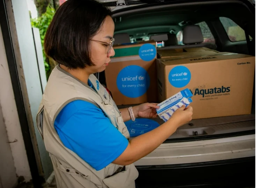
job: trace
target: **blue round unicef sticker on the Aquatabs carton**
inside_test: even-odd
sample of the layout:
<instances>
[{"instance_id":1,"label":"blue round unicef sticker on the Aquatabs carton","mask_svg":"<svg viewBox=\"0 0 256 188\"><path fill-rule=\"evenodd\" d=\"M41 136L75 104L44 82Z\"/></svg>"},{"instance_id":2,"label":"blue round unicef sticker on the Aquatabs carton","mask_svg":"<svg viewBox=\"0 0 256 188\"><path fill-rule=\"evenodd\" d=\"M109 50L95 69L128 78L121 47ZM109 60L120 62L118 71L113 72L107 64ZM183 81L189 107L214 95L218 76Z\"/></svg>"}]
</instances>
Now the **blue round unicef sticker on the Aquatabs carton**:
<instances>
[{"instance_id":1,"label":"blue round unicef sticker on the Aquatabs carton","mask_svg":"<svg viewBox=\"0 0 256 188\"><path fill-rule=\"evenodd\" d=\"M191 79L191 73L184 66L177 66L171 69L169 73L169 82L175 88L185 87Z\"/></svg>"}]
</instances>

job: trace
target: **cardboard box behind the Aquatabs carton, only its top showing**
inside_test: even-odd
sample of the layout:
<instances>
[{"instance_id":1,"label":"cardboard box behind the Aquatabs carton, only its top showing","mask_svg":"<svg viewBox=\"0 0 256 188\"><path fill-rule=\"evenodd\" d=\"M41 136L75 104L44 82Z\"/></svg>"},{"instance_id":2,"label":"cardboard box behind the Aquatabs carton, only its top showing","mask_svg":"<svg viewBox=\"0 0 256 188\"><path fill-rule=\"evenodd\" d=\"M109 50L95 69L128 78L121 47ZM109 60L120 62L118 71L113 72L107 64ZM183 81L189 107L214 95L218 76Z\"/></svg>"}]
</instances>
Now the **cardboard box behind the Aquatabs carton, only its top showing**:
<instances>
[{"instance_id":1,"label":"cardboard box behind the Aquatabs carton, only its top showing","mask_svg":"<svg viewBox=\"0 0 256 188\"><path fill-rule=\"evenodd\" d=\"M158 54L161 58L172 58L181 56L193 56L193 55L214 55L219 53L218 51L211 50L209 48L184 48L183 52L175 52L174 50L158 50Z\"/></svg>"}]
</instances>

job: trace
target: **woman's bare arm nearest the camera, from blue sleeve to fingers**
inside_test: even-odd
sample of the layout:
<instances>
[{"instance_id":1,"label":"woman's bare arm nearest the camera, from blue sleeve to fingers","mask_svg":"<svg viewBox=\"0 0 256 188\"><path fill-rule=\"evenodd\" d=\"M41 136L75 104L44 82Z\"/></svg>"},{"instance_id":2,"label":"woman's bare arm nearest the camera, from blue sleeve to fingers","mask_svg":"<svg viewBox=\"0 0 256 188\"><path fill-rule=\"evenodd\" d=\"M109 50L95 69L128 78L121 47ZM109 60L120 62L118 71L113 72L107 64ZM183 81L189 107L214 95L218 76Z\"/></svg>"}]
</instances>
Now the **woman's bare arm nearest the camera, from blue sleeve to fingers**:
<instances>
[{"instance_id":1,"label":"woman's bare arm nearest the camera, from blue sleeve to fingers","mask_svg":"<svg viewBox=\"0 0 256 188\"><path fill-rule=\"evenodd\" d=\"M178 108L171 118L159 127L137 136L129 141L124 152L113 161L118 165L129 165L145 157L161 145L178 127L192 120L193 109L191 106Z\"/></svg>"}]
</instances>

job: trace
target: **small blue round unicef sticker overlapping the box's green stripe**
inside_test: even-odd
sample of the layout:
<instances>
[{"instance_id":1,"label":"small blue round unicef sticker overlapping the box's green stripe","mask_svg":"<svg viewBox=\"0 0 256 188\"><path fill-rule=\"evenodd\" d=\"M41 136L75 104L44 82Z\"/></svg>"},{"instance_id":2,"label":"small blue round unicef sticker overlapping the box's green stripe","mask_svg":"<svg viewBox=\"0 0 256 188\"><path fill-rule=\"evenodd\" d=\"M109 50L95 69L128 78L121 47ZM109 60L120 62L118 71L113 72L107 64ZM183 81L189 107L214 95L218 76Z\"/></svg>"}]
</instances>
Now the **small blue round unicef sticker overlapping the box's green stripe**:
<instances>
[{"instance_id":1,"label":"small blue round unicef sticker overlapping the box's green stripe","mask_svg":"<svg viewBox=\"0 0 256 188\"><path fill-rule=\"evenodd\" d=\"M144 61L151 61L155 58L156 49L152 44L144 44L139 49L139 56Z\"/></svg>"}]
</instances>

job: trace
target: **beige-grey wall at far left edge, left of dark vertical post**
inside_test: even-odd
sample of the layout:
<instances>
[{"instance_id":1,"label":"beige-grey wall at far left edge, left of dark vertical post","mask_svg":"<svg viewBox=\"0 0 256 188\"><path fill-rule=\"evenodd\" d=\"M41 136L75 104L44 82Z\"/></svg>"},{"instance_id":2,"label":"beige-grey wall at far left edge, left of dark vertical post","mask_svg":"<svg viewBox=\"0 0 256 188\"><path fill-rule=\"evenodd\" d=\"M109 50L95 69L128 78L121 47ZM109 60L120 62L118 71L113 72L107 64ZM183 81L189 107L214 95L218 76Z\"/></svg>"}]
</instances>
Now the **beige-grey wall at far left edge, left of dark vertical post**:
<instances>
[{"instance_id":1,"label":"beige-grey wall at far left edge, left of dark vertical post","mask_svg":"<svg viewBox=\"0 0 256 188\"><path fill-rule=\"evenodd\" d=\"M1 123L1 168L0 176L10 174L9 184L16 183L15 178L17 176L23 176L25 181L31 180L30 168L28 164L27 154L21 132L21 126L19 116L16 108L14 99L12 82L9 74L8 63L6 59L5 46L3 44L2 31L0 27L0 107L2 110L2 121ZM7 135L6 135L7 133ZM5 137L6 135L6 137ZM7 139L9 146L2 141ZM8 148L10 148L12 156L8 154ZM3 149L3 150L2 150ZM14 168L16 172L13 174ZM6 174L5 174L6 173ZM14 176L13 176L14 175ZM15 177L15 178L14 178ZM5 178L1 177L1 181L6 181ZM3 185L3 188L6 188Z\"/></svg>"}]
</instances>

